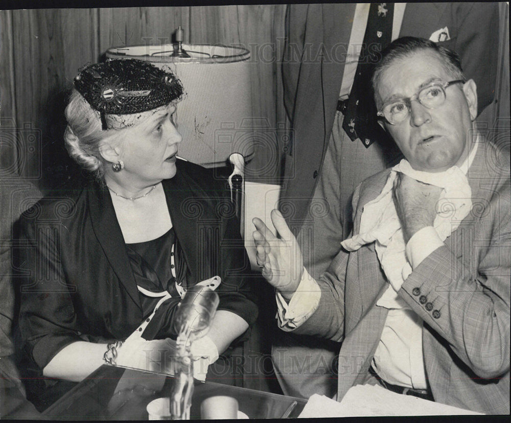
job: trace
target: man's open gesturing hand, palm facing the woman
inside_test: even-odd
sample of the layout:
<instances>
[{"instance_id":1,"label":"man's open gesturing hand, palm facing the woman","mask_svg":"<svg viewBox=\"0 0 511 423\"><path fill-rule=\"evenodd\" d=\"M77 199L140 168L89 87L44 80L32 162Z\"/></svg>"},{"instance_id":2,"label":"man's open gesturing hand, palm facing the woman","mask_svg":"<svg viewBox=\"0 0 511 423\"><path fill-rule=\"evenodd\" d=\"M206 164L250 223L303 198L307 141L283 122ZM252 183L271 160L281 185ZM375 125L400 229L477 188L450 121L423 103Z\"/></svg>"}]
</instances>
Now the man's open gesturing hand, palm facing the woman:
<instances>
[{"instance_id":1,"label":"man's open gesturing hand, palm facing the woman","mask_svg":"<svg viewBox=\"0 0 511 423\"><path fill-rule=\"evenodd\" d=\"M277 238L261 219L252 219L257 229L252 233L257 250L257 264L265 279L289 301L304 273L304 259L281 212L273 209L271 221L280 238Z\"/></svg>"}]
</instances>

